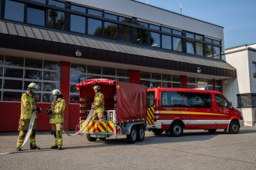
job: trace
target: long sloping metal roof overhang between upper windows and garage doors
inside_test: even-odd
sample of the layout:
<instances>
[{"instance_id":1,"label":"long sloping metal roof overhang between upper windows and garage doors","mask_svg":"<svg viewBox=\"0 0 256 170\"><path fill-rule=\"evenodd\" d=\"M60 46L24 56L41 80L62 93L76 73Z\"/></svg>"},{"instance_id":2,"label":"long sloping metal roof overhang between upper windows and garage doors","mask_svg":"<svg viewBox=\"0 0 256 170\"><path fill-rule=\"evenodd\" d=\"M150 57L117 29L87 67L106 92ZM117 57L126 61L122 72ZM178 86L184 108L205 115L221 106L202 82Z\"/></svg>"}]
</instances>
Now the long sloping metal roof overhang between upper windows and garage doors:
<instances>
[{"instance_id":1,"label":"long sloping metal roof overhang between upper windows and garage doors","mask_svg":"<svg viewBox=\"0 0 256 170\"><path fill-rule=\"evenodd\" d=\"M197 67L200 67L201 74L236 78L236 69L223 60L200 58L2 20L0 20L0 47L68 57L75 57L75 51L79 49L83 54L82 58L85 59L189 73L195 73Z\"/></svg>"}]
</instances>

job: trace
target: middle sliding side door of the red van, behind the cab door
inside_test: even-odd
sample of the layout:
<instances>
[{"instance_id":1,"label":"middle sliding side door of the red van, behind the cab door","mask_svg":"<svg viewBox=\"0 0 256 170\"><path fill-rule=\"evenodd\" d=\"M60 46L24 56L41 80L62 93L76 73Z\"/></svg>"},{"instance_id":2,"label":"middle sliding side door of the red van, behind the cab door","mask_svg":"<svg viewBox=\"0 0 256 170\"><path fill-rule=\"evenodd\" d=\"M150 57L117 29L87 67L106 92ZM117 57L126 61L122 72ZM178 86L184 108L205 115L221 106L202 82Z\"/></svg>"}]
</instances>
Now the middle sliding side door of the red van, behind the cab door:
<instances>
[{"instance_id":1,"label":"middle sliding side door of the red van, behind the cab door","mask_svg":"<svg viewBox=\"0 0 256 170\"><path fill-rule=\"evenodd\" d=\"M190 128L215 129L212 94L190 92Z\"/></svg>"}]
</instances>

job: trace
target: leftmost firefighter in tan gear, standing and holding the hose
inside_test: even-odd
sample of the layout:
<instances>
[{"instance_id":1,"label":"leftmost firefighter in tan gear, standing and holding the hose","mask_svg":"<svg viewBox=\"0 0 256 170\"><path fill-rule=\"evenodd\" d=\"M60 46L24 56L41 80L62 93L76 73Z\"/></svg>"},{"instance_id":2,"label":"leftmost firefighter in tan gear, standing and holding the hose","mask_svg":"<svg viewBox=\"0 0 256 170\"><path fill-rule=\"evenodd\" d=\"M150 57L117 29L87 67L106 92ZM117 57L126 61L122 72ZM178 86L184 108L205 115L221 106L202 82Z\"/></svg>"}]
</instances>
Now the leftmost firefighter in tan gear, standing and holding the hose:
<instances>
[{"instance_id":1,"label":"leftmost firefighter in tan gear, standing and holding the hose","mask_svg":"<svg viewBox=\"0 0 256 170\"><path fill-rule=\"evenodd\" d=\"M36 107L35 103L35 91L38 90L38 85L35 82L31 82L28 85L27 91L21 96L21 105L20 105L20 121L19 121L19 137L17 140L17 151L21 151L21 145L23 145L26 133L29 129L29 121L32 117L32 112L41 112L41 108ZM32 134L30 136L30 148L31 149L40 149L35 143L35 130L36 127L36 115L35 123L32 129Z\"/></svg>"}]
</instances>

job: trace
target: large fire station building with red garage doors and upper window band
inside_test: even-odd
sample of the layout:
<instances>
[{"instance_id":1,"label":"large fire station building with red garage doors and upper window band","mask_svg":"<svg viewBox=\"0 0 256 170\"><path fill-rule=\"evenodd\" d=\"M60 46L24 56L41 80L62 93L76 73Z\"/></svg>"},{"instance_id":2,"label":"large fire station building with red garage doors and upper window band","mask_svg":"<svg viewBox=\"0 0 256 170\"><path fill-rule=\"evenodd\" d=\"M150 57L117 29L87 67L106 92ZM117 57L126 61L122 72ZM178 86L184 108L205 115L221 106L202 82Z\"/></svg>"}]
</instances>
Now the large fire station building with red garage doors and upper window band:
<instances>
[{"instance_id":1,"label":"large fire station building with red garage doors and upper window band","mask_svg":"<svg viewBox=\"0 0 256 170\"><path fill-rule=\"evenodd\" d=\"M17 131L30 82L43 112L50 92L62 91L69 130L78 124L78 79L223 91L222 80L236 79L223 50L223 27L138 1L0 0L0 131ZM38 115L37 129L50 130L48 115Z\"/></svg>"}]
</instances>

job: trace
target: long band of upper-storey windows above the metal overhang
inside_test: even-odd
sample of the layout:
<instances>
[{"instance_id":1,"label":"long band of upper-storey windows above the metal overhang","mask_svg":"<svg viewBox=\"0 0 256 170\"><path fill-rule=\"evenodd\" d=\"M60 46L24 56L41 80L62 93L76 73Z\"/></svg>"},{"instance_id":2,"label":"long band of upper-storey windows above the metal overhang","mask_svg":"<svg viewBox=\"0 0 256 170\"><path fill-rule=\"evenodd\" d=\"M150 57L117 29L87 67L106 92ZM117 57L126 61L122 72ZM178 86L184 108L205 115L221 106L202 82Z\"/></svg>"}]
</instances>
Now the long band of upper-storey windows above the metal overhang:
<instances>
[{"instance_id":1,"label":"long band of upper-storey windows above the metal overhang","mask_svg":"<svg viewBox=\"0 0 256 170\"><path fill-rule=\"evenodd\" d=\"M69 3L5 0L0 8L5 8L2 18L14 22L221 59L221 40Z\"/></svg>"}]
</instances>

